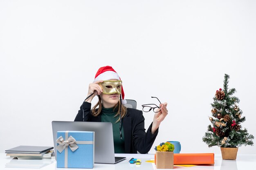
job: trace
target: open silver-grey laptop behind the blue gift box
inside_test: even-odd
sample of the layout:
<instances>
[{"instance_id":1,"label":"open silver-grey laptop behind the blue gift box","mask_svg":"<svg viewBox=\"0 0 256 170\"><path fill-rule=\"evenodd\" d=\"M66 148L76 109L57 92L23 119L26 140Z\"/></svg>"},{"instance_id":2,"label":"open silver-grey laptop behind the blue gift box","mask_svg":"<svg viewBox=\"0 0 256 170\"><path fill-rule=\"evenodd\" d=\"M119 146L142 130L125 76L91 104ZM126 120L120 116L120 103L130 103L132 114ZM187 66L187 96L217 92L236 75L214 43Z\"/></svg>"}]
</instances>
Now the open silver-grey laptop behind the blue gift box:
<instances>
[{"instance_id":1,"label":"open silver-grey laptop behind the blue gift box","mask_svg":"<svg viewBox=\"0 0 256 170\"><path fill-rule=\"evenodd\" d=\"M57 131L77 130L94 133L94 163L117 163L126 157L115 157L112 123L87 121L52 121L55 159L57 156Z\"/></svg>"}]
</instances>

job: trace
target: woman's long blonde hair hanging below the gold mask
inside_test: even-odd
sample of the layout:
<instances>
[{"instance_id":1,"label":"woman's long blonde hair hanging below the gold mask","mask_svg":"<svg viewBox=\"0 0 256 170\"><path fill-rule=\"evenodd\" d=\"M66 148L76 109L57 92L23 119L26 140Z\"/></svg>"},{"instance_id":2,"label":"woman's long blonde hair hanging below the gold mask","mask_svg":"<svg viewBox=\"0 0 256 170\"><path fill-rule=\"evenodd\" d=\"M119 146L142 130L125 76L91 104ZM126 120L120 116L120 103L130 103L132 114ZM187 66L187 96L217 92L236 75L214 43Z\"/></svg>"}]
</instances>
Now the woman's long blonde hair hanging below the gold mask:
<instances>
[{"instance_id":1,"label":"woman's long blonde hair hanging below the gold mask","mask_svg":"<svg viewBox=\"0 0 256 170\"><path fill-rule=\"evenodd\" d=\"M98 116L101 113L101 109L102 109L101 97L99 95L98 95L98 97L99 97L99 101L92 108L92 116L94 116L94 117ZM99 106L98 110L96 110L97 106ZM121 108L119 106L120 106L120 100L118 101L118 103L113 108L113 111L114 111L118 107L118 111L117 111L117 114L115 115L115 117L119 116L120 111L121 111L121 117L124 118L125 115L126 115L126 112L127 112L127 108L126 108L126 106L124 106L122 104L121 104ZM120 117L118 118L118 120L116 122L118 122L118 121L120 121Z\"/></svg>"}]
</instances>

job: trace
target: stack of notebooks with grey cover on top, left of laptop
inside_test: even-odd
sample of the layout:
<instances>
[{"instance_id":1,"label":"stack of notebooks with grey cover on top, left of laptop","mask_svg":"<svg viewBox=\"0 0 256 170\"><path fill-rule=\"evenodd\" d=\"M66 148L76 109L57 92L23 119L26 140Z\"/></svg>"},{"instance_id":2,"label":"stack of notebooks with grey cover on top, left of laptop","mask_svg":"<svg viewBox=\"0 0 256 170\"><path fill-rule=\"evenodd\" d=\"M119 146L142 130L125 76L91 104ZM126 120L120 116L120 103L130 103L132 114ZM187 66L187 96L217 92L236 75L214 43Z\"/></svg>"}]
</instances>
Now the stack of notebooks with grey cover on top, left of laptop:
<instances>
[{"instance_id":1,"label":"stack of notebooks with grey cover on top, left of laptop","mask_svg":"<svg viewBox=\"0 0 256 170\"><path fill-rule=\"evenodd\" d=\"M51 159L52 149L52 146L17 146L5 150L5 153L6 156L17 157L18 159Z\"/></svg>"}]
</instances>

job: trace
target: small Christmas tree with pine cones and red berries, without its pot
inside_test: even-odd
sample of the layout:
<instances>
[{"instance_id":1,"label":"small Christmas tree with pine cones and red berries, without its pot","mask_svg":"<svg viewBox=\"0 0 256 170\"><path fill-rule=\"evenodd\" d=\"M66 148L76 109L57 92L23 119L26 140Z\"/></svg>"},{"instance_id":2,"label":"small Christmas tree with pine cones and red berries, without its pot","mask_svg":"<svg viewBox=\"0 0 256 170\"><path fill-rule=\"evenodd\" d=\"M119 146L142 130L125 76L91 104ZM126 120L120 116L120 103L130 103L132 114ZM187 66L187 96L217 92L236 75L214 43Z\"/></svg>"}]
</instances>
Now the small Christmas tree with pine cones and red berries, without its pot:
<instances>
[{"instance_id":1,"label":"small Christmas tree with pine cones and red berries, without its pot","mask_svg":"<svg viewBox=\"0 0 256 170\"><path fill-rule=\"evenodd\" d=\"M253 146L253 135L249 135L241 123L245 121L242 117L243 111L237 106L240 102L238 97L232 96L235 88L228 89L229 75L225 74L224 88L216 91L213 97L212 116L209 117L211 125L202 140L210 147L222 146L225 148L239 147L242 145Z\"/></svg>"}]
</instances>

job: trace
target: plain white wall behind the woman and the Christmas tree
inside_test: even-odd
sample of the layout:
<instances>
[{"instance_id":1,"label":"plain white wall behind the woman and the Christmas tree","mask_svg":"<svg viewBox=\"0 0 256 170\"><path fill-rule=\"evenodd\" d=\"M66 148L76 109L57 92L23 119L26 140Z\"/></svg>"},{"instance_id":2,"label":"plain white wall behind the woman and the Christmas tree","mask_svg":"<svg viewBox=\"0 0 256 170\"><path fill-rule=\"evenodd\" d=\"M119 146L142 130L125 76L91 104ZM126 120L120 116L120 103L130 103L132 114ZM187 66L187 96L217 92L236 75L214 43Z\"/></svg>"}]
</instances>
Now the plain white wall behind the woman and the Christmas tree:
<instances>
[{"instance_id":1,"label":"plain white wall behind the woman and the Christmas tree","mask_svg":"<svg viewBox=\"0 0 256 170\"><path fill-rule=\"evenodd\" d=\"M220 153L202 137L225 73L256 137L255 30L253 0L0 0L0 152L53 146L51 122L74 120L106 65L137 109L158 103L150 96L168 102L149 153L169 140ZM153 112L144 117L147 129Z\"/></svg>"}]
</instances>

